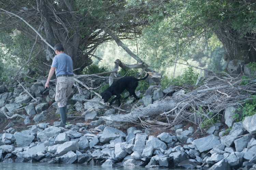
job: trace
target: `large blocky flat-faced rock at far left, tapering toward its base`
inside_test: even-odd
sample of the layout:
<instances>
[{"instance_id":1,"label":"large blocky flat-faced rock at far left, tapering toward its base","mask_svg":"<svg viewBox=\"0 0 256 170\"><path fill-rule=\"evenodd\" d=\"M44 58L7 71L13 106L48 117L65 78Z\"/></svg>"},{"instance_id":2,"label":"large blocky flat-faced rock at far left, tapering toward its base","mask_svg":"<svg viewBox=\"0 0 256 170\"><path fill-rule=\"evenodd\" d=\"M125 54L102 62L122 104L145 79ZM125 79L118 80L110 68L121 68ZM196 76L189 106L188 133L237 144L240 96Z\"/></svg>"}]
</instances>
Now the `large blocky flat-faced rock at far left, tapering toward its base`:
<instances>
[{"instance_id":1,"label":"large blocky flat-faced rock at far left, tapering toward its base","mask_svg":"<svg viewBox=\"0 0 256 170\"><path fill-rule=\"evenodd\" d=\"M20 133L20 132L15 132L14 137L16 139L17 147L19 148L29 146L30 143L32 143L32 141L35 138L34 135L29 135L29 134Z\"/></svg>"}]
</instances>

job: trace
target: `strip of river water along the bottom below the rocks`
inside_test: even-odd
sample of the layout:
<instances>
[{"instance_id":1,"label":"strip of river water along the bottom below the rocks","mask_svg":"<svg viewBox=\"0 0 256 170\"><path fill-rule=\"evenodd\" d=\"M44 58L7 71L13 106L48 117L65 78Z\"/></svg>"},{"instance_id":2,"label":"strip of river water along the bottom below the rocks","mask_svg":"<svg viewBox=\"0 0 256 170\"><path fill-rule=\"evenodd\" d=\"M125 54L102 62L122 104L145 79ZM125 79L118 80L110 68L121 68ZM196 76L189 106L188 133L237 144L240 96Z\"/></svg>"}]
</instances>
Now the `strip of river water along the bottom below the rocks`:
<instances>
[{"instance_id":1,"label":"strip of river water along the bottom below the rocks","mask_svg":"<svg viewBox=\"0 0 256 170\"><path fill-rule=\"evenodd\" d=\"M48 163L3 163L0 162L0 170L153 170L168 168L144 168L144 167L102 167L83 164L48 164ZM168 169L181 170L181 169Z\"/></svg>"}]
</instances>

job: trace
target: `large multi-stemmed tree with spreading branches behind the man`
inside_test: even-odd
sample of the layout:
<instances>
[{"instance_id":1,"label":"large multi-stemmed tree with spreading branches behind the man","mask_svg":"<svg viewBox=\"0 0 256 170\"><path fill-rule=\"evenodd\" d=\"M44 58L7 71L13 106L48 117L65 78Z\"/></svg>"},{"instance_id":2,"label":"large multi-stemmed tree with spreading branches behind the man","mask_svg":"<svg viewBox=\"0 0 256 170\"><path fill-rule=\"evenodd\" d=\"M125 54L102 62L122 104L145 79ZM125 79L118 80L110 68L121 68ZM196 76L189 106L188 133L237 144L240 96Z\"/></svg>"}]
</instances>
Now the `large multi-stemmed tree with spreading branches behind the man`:
<instances>
[{"instance_id":1,"label":"large multi-stemmed tree with spreading branches behind the man","mask_svg":"<svg viewBox=\"0 0 256 170\"><path fill-rule=\"evenodd\" d=\"M73 68L78 68L76 73L80 73L91 63L91 57L97 57L94 55L96 48L112 40L106 29L118 33L121 40L141 34L145 10L138 12L138 7L127 8L125 5L125 0L1 0L0 41L4 49L0 56L18 66L29 63L30 67L44 72L48 71L48 66L43 63L51 64L55 55L51 46L60 43L73 59ZM38 30L50 46L13 14Z\"/></svg>"}]
</instances>

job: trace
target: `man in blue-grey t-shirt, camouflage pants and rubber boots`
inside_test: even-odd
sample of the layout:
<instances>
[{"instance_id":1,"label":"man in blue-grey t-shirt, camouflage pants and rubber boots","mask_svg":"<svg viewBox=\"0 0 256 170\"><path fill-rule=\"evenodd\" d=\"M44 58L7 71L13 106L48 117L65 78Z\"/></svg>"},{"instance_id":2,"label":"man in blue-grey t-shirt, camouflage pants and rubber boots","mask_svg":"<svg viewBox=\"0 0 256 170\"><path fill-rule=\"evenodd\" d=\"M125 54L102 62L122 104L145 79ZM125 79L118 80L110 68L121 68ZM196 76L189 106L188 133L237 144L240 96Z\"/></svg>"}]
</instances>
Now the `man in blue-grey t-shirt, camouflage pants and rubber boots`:
<instances>
[{"instance_id":1,"label":"man in blue-grey t-shirt, camouflage pants and rubber boots","mask_svg":"<svg viewBox=\"0 0 256 170\"><path fill-rule=\"evenodd\" d=\"M70 96L74 84L73 61L70 56L64 53L64 47L61 44L55 45L54 51L57 55L53 58L45 88L50 86L49 82L55 71L57 78L55 101L59 107L60 125L65 126L67 119L66 99Z\"/></svg>"}]
</instances>

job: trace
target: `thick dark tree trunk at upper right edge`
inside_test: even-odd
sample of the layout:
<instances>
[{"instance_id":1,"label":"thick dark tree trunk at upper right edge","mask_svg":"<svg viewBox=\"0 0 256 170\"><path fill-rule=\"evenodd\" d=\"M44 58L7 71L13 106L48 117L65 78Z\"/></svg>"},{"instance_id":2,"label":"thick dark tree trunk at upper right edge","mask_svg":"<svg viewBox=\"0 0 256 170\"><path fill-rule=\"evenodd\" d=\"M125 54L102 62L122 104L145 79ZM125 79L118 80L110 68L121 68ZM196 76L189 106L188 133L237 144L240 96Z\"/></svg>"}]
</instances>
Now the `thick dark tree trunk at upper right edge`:
<instances>
[{"instance_id":1,"label":"thick dark tree trunk at upper right edge","mask_svg":"<svg viewBox=\"0 0 256 170\"><path fill-rule=\"evenodd\" d=\"M215 30L215 34L222 42L225 49L224 60L229 63L232 60L242 60L245 64L256 62L256 49L253 48L255 40L249 39L252 35L243 36L236 31L230 29L229 26L220 26Z\"/></svg>"}]
</instances>

